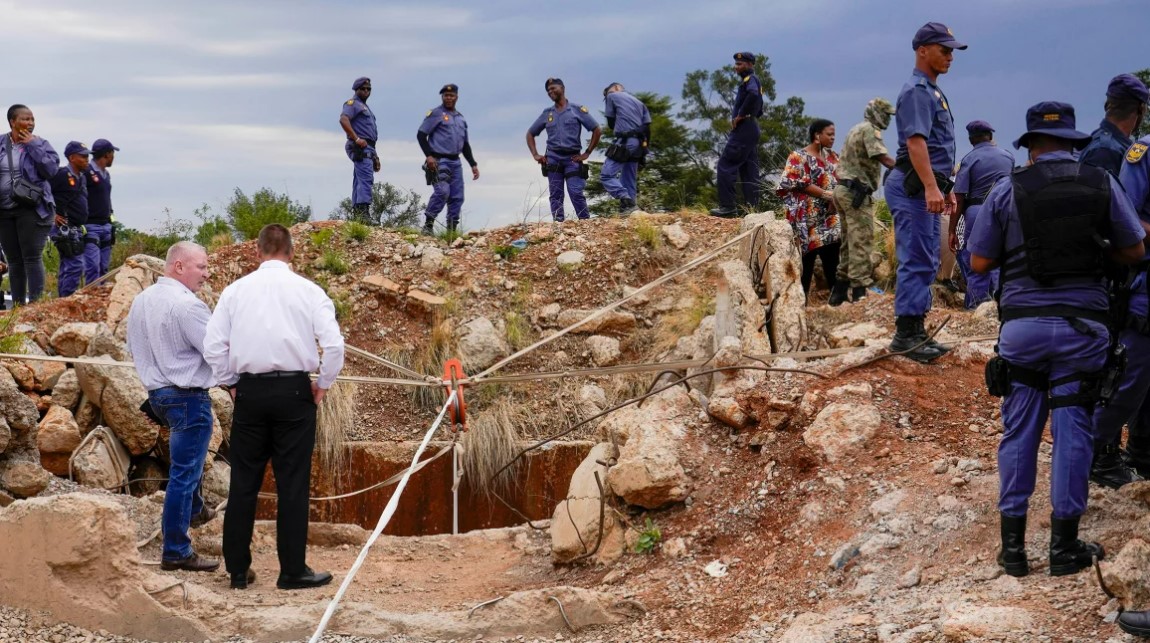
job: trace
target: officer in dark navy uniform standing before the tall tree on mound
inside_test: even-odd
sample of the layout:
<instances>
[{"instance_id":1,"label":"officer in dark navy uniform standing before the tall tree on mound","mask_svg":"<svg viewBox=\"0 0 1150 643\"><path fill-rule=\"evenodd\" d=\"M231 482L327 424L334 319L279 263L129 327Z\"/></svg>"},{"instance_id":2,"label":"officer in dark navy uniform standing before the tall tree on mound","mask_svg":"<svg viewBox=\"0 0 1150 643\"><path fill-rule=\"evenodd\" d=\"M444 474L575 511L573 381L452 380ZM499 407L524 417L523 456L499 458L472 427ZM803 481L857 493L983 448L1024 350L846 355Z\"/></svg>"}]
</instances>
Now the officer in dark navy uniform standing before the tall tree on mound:
<instances>
[{"instance_id":1,"label":"officer in dark navy uniform standing before the tall tree on mound","mask_svg":"<svg viewBox=\"0 0 1150 643\"><path fill-rule=\"evenodd\" d=\"M719 207L711 209L712 216L733 219L735 209L735 183L743 186L746 207L759 206L759 117L762 116L762 85L754 75L754 54L735 54L735 74L738 74L738 91L730 108L730 133L715 166L715 182L719 184Z\"/></svg>"}]
</instances>

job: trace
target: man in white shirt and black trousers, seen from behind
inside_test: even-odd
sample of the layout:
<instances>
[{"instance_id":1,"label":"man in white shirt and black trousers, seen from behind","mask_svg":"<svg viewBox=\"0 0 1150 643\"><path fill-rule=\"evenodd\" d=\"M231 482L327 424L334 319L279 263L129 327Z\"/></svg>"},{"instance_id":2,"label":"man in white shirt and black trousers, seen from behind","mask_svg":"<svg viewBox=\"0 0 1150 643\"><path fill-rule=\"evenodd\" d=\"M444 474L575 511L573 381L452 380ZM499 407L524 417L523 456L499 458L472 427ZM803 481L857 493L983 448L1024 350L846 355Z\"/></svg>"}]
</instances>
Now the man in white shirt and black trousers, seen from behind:
<instances>
[{"instance_id":1,"label":"man in white shirt and black trousers, seen from behind","mask_svg":"<svg viewBox=\"0 0 1150 643\"><path fill-rule=\"evenodd\" d=\"M313 572L306 564L315 412L343 368L344 339L331 299L292 271L288 229L264 225L256 250L259 269L224 289L204 342L216 381L236 400L224 564L232 588L252 582L255 504L270 459L278 496L276 587L320 587L331 582L331 574ZM308 374L316 369L313 383Z\"/></svg>"}]
</instances>

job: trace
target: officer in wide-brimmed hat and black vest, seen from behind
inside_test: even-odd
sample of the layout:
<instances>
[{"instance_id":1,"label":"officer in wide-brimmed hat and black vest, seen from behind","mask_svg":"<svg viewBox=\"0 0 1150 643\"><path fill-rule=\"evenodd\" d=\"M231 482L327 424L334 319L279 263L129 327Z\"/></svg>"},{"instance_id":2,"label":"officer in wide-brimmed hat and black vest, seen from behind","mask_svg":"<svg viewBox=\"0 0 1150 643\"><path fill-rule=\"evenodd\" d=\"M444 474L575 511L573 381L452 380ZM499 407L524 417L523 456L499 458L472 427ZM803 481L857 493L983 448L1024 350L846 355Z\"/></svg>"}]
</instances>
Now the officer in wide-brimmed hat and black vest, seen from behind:
<instances>
[{"instance_id":1,"label":"officer in wide-brimmed hat and black vest, seen from behind","mask_svg":"<svg viewBox=\"0 0 1150 643\"><path fill-rule=\"evenodd\" d=\"M1103 267L1107 254L1121 263L1140 261L1145 234L1118 182L1075 162L1073 150L1090 136L1074 129L1073 107L1040 102L1027 110L1026 125L1014 147L1026 146L1033 164L991 189L967 247L975 271L1002 267L999 357L987 366L991 393L1004 395L998 562L1012 576L1029 572L1026 513L1050 415L1050 574L1059 576L1104 556L1097 543L1078 539L1091 412L1110 352Z\"/></svg>"}]
</instances>

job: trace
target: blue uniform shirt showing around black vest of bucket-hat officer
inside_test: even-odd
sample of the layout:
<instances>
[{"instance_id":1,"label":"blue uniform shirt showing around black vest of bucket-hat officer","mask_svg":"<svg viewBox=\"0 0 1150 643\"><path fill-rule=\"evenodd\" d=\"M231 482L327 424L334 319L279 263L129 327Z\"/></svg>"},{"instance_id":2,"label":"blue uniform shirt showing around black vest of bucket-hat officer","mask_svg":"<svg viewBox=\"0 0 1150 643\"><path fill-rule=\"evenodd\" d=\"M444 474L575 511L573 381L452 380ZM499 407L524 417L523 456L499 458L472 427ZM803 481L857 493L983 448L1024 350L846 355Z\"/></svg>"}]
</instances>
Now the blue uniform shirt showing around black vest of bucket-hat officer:
<instances>
[{"instance_id":1,"label":"blue uniform shirt showing around black vest of bucket-hat officer","mask_svg":"<svg viewBox=\"0 0 1150 643\"><path fill-rule=\"evenodd\" d=\"M1038 163L1048 161L1073 161L1070 152L1050 152L1038 156ZM1110 234L1113 247L1129 247L1145 237L1138 215L1126 197L1122 186L1110 179ZM1002 261L1007 250L1022 245L1022 224L1014 206L1014 184L999 181L987 197L981 215L974 228L967 232L967 250L987 259ZM1025 257L1025 252L1018 257ZM1013 259L1013 258L1012 258ZM1102 278L1089 283L1072 283L1044 286L1022 275L1003 283L1000 305L1003 307L1075 306L1091 311L1105 311L1109 306L1106 284Z\"/></svg>"}]
</instances>

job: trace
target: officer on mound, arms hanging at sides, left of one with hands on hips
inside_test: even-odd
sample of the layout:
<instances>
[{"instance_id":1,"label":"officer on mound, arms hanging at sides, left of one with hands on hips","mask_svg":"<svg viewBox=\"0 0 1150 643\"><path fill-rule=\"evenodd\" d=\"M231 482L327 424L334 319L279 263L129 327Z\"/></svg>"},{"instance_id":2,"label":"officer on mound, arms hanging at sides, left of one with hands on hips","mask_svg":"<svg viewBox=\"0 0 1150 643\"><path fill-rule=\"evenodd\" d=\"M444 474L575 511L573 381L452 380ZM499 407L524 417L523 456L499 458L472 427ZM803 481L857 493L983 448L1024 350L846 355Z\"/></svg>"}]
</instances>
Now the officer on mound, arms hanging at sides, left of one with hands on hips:
<instances>
[{"instance_id":1,"label":"officer on mound, arms hanging at sides, left of one with hands on hips","mask_svg":"<svg viewBox=\"0 0 1150 643\"><path fill-rule=\"evenodd\" d=\"M471 144L467 139L467 121L455 110L459 99L459 86L444 85L439 90L442 104L428 110L415 139L427 160L423 170L429 181L434 181L435 190L423 214L423 234L435 232L435 220L443 206L447 206L447 232L454 234L459 227L459 212L463 208L463 170L459 155L467 159L471 166L471 181L480 178L480 166L471 155Z\"/></svg>"}]
</instances>

